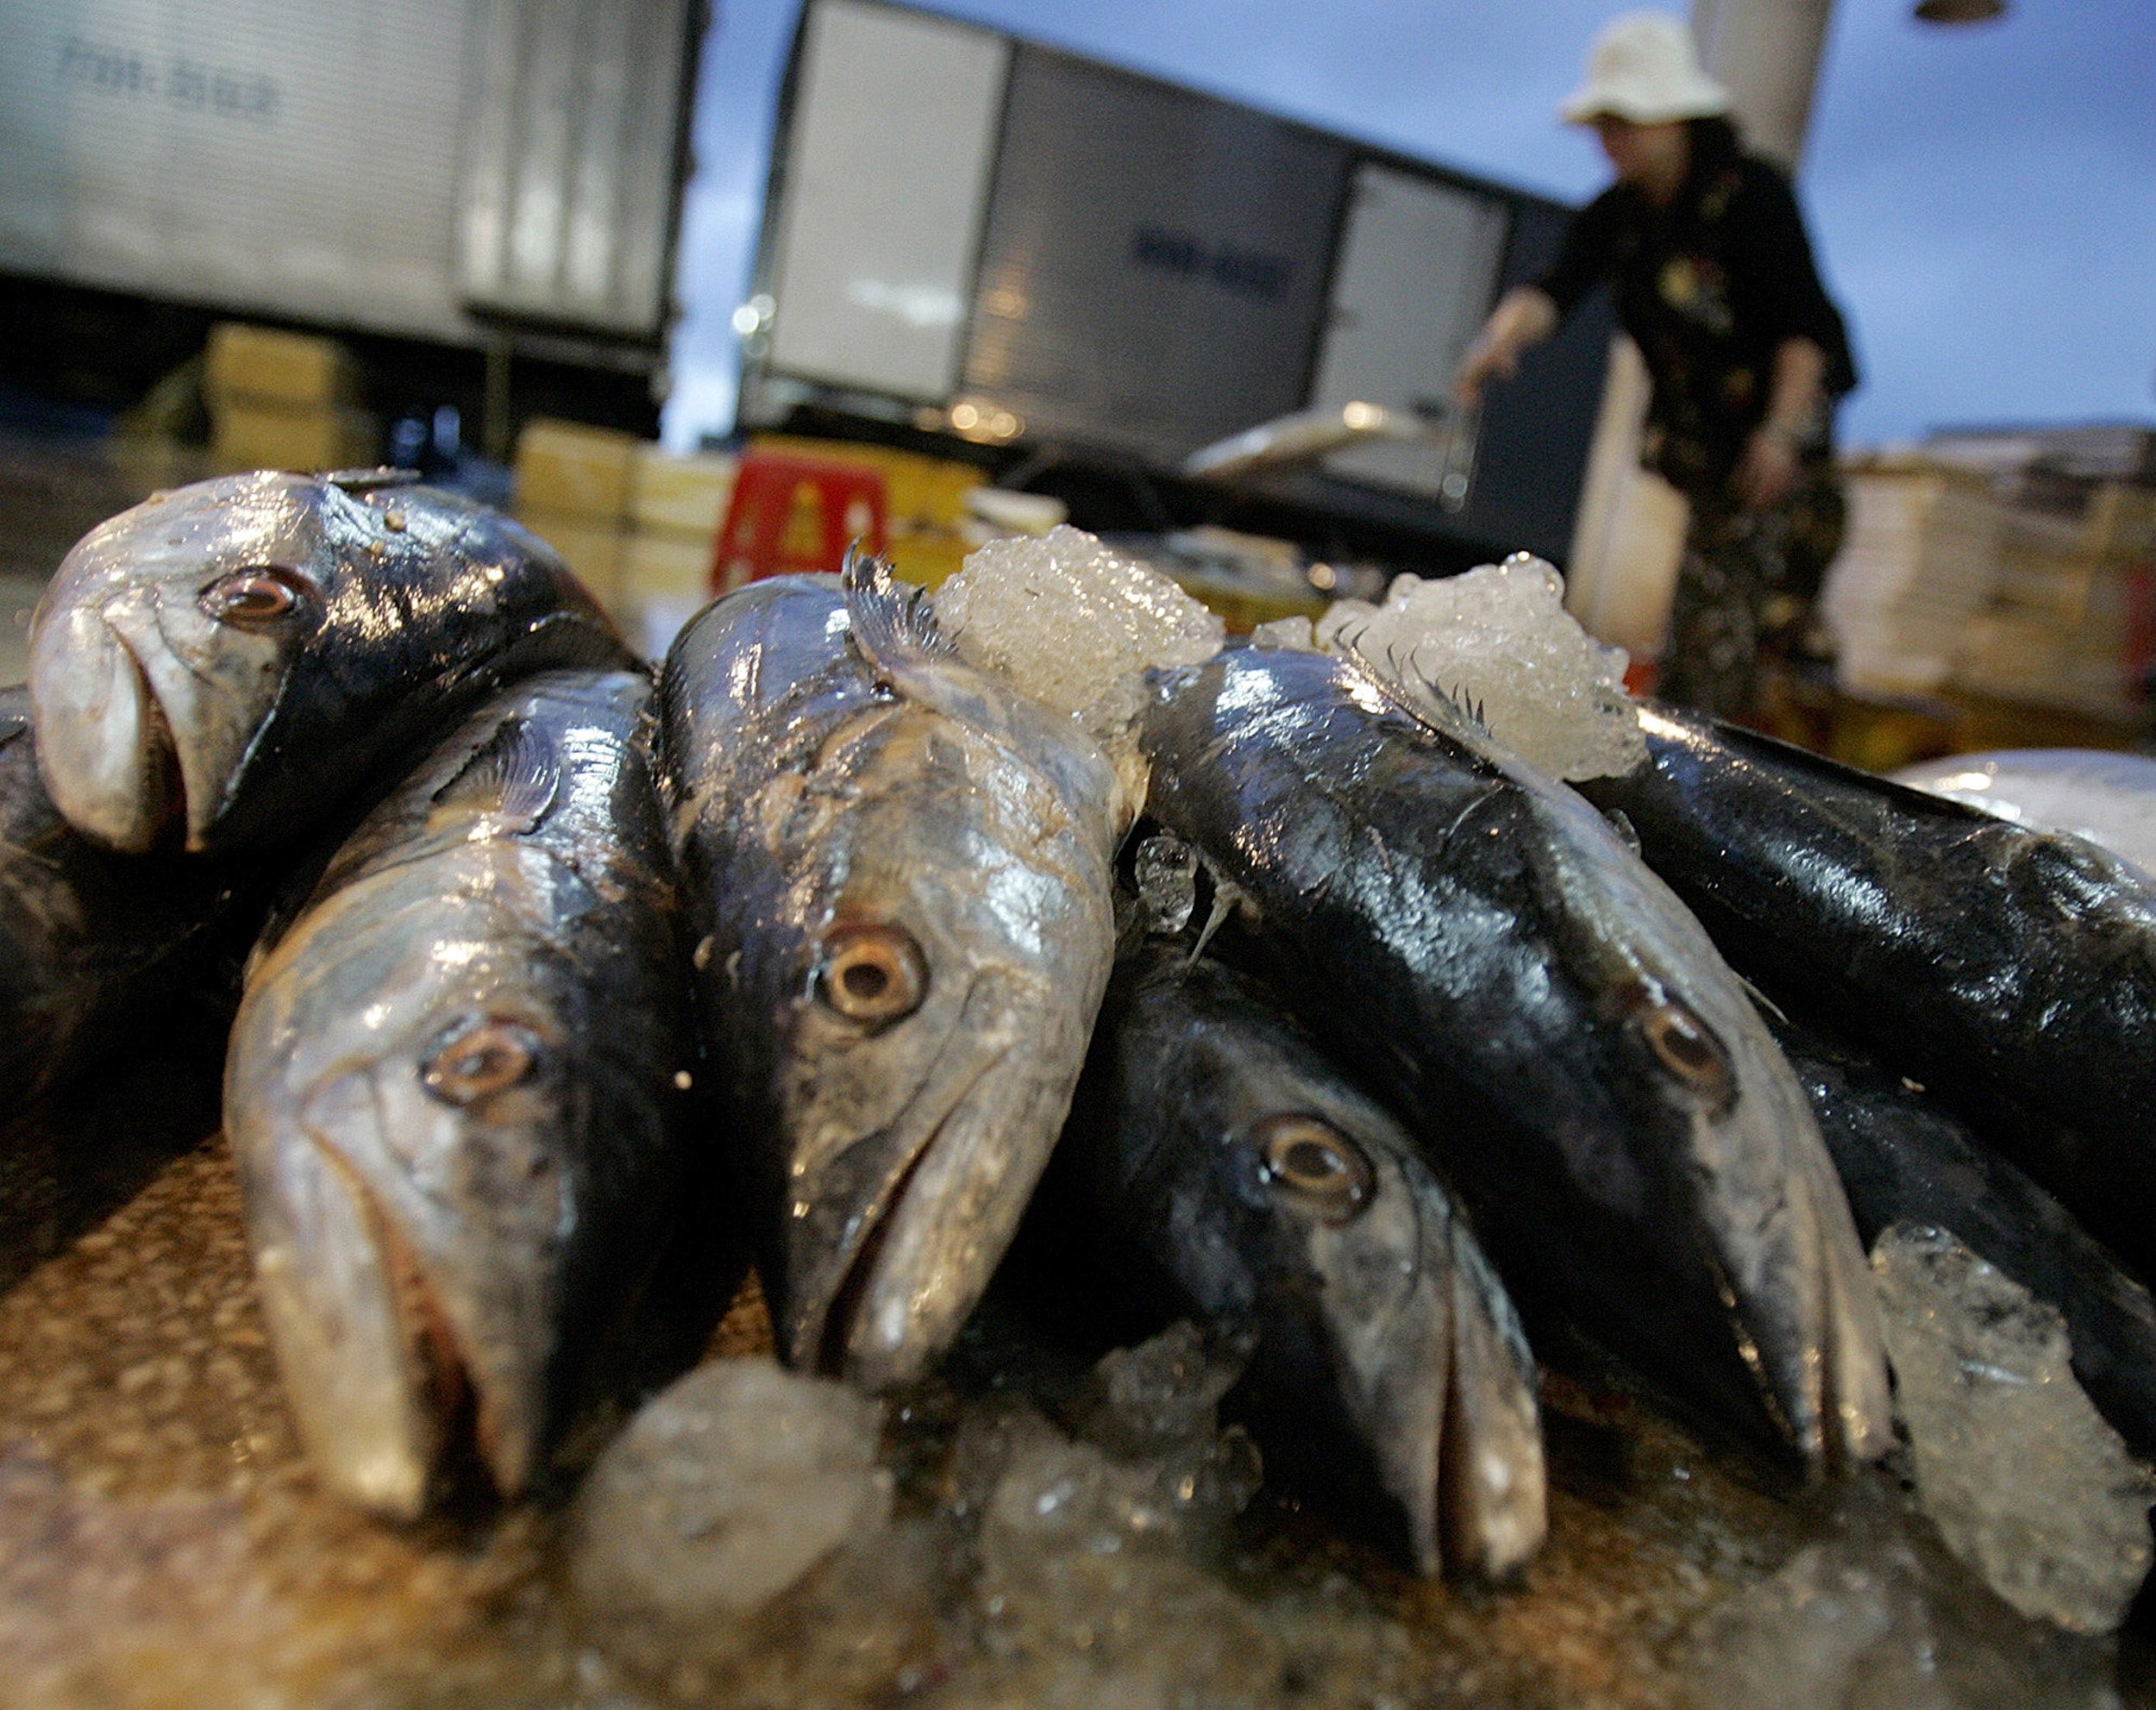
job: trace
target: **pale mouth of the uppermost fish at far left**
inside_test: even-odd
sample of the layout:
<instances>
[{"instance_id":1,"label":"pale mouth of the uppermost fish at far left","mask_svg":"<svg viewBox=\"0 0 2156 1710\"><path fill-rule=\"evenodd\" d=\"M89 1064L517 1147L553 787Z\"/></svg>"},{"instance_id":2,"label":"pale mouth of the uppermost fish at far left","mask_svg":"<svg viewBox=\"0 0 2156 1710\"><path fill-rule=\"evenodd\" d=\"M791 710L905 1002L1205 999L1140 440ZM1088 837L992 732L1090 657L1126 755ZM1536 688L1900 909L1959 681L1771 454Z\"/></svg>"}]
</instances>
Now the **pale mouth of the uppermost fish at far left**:
<instances>
[{"instance_id":1,"label":"pale mouth of the uppermost fish at far left","mask_svg":"<svg viewBox=\"0 0 2156 1710\"><path fill-rule=\"evenodd\" d=\"M75 830L149 854L185 822L179 744L149 671L101 612L69 612L32 643L30 697L45 794Z\"/></svg>"}]
</instances>

